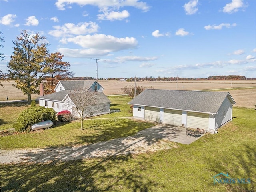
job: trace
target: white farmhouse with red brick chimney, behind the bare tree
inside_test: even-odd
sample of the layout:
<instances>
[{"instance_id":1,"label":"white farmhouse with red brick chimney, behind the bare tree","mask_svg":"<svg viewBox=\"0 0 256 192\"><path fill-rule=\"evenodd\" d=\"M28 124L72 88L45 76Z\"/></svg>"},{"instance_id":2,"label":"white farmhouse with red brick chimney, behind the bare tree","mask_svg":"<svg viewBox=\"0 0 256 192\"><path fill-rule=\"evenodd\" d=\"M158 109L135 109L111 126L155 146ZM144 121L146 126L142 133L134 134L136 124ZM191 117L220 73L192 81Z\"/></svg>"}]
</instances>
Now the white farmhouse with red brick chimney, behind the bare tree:
<instances>
[{"instance_id":1,"label":"white farmhouse with red brick chimney, behind the bare tree","mask_svg":"<svg viewBox=\"0 0 256 192\"><path fill-rule=\"evenodd\" d=\"M103 93L104 88L96 80L59 81L54 90L55 93L44 95L43 86L40 84L41 96L38 98L40 106L53 108L56 112L68 110L77 116L78 114L72 108L75 102L70 99L69 95L74 90L92 90L95 92L97 103L92 106L95 111L90 116L107 114L110 111L110 100Z\"/></svg>"}]
</instances>

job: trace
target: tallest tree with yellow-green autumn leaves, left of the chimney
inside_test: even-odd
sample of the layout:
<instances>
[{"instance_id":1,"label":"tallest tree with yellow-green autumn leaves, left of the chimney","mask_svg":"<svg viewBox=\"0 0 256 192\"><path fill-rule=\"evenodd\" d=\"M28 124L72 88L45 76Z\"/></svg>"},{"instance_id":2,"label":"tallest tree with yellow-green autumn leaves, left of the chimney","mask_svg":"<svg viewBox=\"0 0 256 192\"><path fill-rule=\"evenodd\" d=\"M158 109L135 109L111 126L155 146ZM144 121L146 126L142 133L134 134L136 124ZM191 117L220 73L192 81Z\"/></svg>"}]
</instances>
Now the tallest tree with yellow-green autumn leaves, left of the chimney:
<instances>
[{"instance_id":1,"label":"tallest tree with yellow-green autumn leaves, left of the chimney","mask_svg":"<svg viewBox=\"0 0 256 192\"><path fill-rule=\"evenodd\" d=\"M42 78L48 73L46 57L48 49L46 37L39 33L32 34L22 30L16 37L14 52L8 63L10 78L15 80L13 84L28 96L28 104L31 104L31 94L38 94L38 86Z\"/></svg>"}]
</instances>

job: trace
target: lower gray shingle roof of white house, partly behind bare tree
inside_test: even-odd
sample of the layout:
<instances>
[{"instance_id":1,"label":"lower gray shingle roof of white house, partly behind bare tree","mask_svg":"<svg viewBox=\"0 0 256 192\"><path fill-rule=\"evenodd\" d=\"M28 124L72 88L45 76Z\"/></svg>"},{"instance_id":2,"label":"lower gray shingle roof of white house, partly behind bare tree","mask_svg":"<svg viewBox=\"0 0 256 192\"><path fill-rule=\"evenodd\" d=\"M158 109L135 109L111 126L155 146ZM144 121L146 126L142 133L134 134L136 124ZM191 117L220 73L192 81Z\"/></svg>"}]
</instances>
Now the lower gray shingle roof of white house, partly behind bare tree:
<instances>
[{"instance_id":1,"label":"lower gray shingle roof of white house, partly behind bare tree","mask_svg":"<svg viewBox=\"0 0 256 192\"><path fill-rule=\"evenodd\" d=\"M55 93L52 93L52 94L41 96L38 99L62 102L63 99L70 92L73 92L73 90L63 90L63 91L55 92ZM96 94L96 99L98 101L98 104L110 103L110 100L108 99L108 97L103 92L94 92L94 93Z\"/></svg>"}]
</instances>

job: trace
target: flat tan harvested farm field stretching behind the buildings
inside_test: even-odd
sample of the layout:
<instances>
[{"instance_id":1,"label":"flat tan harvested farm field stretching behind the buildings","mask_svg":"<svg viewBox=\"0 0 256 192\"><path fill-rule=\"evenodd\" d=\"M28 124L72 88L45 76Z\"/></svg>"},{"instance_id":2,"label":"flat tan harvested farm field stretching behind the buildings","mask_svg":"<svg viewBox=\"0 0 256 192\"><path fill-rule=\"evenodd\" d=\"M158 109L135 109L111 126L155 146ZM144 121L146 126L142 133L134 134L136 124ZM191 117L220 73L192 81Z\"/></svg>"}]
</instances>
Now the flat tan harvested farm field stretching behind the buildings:
<instances>
[{"instance_id":1,"label":"flat tan harvested farm field stretching behind the buildings","mask_svg":"<svg viewBox=\"0 0 256 192\"><path fill-rule=\"evenodd\" d=\"M123 94L121 88L132 86L134 82L126 81L99 81L104 87L104 94L118 95ZM27 99L20 90L13 87L14 82L4 82L4 87L0 88L0 100L23 100ZM154 89L172 89L172 90L211 90L220 92L230 92L238 107L254 108L256 104L256 80L186 80L186 81L152 81L136 82L136 85L144 87L153 87ZM32 99L39 97L32 94Z\"/></svg>"}]
</instances>

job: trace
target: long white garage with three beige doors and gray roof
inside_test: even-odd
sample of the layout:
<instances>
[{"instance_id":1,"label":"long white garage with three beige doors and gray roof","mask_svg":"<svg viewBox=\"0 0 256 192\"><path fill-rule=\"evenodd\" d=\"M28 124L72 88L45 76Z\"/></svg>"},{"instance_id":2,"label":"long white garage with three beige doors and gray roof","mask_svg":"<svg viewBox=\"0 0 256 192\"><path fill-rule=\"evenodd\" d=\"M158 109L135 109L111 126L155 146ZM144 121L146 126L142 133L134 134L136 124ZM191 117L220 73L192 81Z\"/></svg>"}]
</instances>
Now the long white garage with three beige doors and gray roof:
<instances>
[{"instance_id":1,"label":"long white garage with three beige doors and gray roof","mask_svg":"<svg viewBox=\"0 0 256 192\"><path fill-rule=\"evenodd\" d=\"M229 92L146 89L128 104L134 118L210 131L232 120L236 102Z\"/></svg>"}]
</instances>

